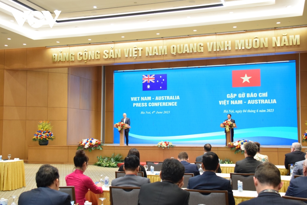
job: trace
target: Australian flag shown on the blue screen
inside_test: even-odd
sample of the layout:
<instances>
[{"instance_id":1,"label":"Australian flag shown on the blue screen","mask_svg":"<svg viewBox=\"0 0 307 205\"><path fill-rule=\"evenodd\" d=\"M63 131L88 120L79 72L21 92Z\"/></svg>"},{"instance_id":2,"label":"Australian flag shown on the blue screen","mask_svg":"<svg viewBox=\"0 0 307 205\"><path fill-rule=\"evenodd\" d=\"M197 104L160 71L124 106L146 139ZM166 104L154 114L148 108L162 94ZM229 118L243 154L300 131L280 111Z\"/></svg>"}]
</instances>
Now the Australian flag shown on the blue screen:
<instances>
[{"instance_id":1,"label":"Australian flag shown on the blue screen","mask_svg":"<svg viewBox=\"0 0 307 205\"><path fill-rule=\"evenodd\" d=\"M143 91L167 90L167 74L143 75Z\"/></svg>"}]
</instances>

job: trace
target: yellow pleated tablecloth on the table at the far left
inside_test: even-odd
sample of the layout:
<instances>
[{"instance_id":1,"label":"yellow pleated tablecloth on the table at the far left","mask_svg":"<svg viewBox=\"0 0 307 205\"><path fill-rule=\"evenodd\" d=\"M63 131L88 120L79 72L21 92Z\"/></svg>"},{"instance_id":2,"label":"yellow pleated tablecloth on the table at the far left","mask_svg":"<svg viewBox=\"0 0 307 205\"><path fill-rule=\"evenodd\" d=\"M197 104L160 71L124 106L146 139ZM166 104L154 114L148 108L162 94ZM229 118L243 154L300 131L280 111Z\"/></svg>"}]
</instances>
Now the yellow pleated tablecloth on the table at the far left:
<instances>
[{"instance_id":1,"label":"yellow pleated tablecloth on the table at the far left","mask_svg":"<svg viewBox=\"0 0 307 205\"><path fill-rule=\"evenodd\" d=\"M25 187L23 160L0 161L0 191L11 191Z\"/></svg>"}]
</instances>

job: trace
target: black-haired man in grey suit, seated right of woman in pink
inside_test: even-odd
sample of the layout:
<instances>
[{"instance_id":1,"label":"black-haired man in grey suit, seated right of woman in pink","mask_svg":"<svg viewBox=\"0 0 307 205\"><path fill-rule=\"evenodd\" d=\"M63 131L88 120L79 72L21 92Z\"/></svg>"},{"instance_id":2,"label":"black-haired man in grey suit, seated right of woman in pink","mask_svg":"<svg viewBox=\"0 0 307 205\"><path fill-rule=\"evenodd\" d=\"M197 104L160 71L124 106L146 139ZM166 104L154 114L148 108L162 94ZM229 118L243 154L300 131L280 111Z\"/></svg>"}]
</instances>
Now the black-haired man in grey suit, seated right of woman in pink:
<instances>
[{"instance_id":1,"label":"black-haired man in grey suit, seated right of woman in pink","mask_svg":"<svg viewBox=\"0 0 307 205\"><path fill-rule=\"evenodd\" d=\"M140 160L135 155L128 155L124 160L125 176L113 179L111 186L116 187L141 187L145 183L150 183L150 179L138 176Z\"/></svg>"}]
</instances>

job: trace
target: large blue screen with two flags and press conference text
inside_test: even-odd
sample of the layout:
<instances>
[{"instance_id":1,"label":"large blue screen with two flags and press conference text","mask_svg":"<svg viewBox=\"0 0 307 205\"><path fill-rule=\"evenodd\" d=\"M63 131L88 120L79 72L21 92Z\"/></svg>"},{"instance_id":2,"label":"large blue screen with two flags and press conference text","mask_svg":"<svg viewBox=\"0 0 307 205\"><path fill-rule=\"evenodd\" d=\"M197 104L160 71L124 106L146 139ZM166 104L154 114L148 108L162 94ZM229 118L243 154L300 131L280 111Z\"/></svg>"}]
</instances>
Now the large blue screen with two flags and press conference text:
<instances>
[{"instance_id":1,"label":"large blue screen with two flags and press conference text","mask_svg":"<svg viewBox=\"0 0 307 205\"><path fill-rule=\"evenodd\" d=\"M225 144L220 123L231 113L234 140L291 144L297 142L295 61L115 71L114 123L124 112L129 143Z\"/></svg>"}]
</instances>

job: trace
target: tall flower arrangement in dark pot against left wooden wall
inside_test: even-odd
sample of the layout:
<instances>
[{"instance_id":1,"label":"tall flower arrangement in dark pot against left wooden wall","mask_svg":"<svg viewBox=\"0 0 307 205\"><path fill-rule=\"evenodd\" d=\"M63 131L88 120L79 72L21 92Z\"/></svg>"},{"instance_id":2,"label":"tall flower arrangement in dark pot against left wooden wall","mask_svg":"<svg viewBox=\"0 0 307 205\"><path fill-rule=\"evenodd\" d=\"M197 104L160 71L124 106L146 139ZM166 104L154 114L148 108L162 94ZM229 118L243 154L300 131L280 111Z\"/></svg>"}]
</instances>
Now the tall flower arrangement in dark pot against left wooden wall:
<instances>
[{"instance_id":1,"label":"tall flower arrangement in dark pot against left wooden wall","mask_svg":"<svg viewBox=\"0 0 307 205\"><path fill-rule=\"evenodd\" d=\"M55 137L51 132L52 126L48 120L39 121L37 128L38 130L32 138L33 141L38 141L39 145L47 145L49 140L54 140Z\"/></svg>"}]
</instances>

